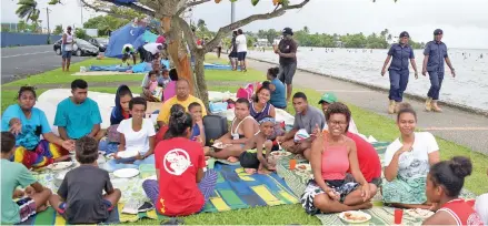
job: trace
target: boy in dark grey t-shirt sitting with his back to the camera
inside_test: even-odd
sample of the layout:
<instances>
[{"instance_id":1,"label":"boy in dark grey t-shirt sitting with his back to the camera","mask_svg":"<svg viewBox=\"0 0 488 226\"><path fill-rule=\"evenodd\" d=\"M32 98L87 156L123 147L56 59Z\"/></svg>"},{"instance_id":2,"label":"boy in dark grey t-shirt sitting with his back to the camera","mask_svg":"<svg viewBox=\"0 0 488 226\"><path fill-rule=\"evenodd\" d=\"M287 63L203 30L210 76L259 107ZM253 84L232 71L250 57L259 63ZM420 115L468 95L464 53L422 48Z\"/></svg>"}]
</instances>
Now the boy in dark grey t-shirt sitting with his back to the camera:
<instances>
[{"instance_id":1,"label":"boy in dark grey t-shirt sitting with his back to the camera","mask_svg":"<svg viewBox=\"0 0 488 226\"><path fill-rule=\"evenodd\" d=\"M119 202L120 189L114 189L109 173L98 167L96 140L79 138L76 157L81 165L66 174L58 195L51 195L49 203L69 224L102 223ZM103 189L106 195L102 195Z\"/></svg>"}]
</instances>

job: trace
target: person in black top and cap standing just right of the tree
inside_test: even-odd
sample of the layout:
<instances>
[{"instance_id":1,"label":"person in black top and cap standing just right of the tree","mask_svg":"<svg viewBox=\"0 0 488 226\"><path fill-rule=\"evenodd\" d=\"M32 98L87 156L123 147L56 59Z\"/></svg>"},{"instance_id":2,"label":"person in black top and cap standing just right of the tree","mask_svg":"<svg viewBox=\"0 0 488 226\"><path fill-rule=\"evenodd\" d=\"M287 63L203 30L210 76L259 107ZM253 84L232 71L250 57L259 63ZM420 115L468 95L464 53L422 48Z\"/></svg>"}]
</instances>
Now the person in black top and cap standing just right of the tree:
<instances>
[{"instance_id":1,"label":"person in black top and cap standing just right of the tree","mask_svg":"<svg viewBox=\"0 0 488 226\"><path fill-rule=\"evenodd\" d=\"M280 60L280 80L287 84L287 103L290 101L291 92L293 88L291 83L293 81L295 71L297 70L297 48L298 44L293 40L293 31L290 28L283 29L283 38L275 45L275 53L279 55Z\"/></svg>"}]
</instances>

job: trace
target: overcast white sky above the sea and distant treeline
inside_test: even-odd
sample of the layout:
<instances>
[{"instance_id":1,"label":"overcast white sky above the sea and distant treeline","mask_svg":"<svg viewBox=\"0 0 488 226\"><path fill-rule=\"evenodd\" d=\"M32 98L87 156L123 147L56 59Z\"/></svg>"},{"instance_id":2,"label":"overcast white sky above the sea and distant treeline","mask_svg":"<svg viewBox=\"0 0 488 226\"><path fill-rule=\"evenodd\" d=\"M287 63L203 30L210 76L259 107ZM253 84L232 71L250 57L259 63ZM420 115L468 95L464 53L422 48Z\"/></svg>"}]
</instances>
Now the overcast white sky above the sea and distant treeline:
<instances>
[{"instance_id":1,"label":"overcast white sky above the sea and distant treeline","mask_svg":"<svg viewBox=\"0 0 488 226\"><path fill-rule=\"evenodd\" d=\"M40 8L48 0L38 0ZM291 0L297 2L299 0ZM17 22L14 14L17 0L1 0L2 22ZM56 6L50 14L52 24L80 24L78 0L63 0L64 6ZM268 12L273 9L271 0L260 0L252 7L250 0L238 0L236 19L251 13ZM281 30L290 27L293 30L307 25L311 32L326 33L379 33L389 29L394 35L406 30L416 41L429 41L437 28L444 30L444 41L449 48L488 49L488 0L311 0L303 9L292 10L285 16L266 21L253 22L245 30L259 29ZM96 13L83 10L84 21ZM46 19L46 10L40 19ZM230 2L213 1L195 8L192 19L203 19L210 30L230 22ZM43 21L46 27L46 21Z\"/></svg>"}]
</instances>

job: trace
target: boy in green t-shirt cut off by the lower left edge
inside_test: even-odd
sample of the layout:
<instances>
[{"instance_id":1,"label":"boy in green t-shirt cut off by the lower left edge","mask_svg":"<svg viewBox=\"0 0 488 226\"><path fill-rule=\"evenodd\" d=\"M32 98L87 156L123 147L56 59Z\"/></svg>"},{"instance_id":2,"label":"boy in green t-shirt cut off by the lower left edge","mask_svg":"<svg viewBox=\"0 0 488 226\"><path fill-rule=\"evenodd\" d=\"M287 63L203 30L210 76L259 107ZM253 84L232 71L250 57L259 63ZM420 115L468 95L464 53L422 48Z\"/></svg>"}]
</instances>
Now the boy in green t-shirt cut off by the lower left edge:
<instances>
[{"instance_id":1,"label":"boy in green t-shirt cut off by the lower left edge","mask_svg":"<svg viewBox=\"0 0 488 226\"><path fill-rule=\"evenodd\" d=\"M26 166L10 162L16 146L13 134L2 132L1 143L1 223L18 224L44 210L51 191L39 184ZM26 191L17 189L18 186ZM13 198L20 199L14 202Z\"/></svg>"}]
</instances>

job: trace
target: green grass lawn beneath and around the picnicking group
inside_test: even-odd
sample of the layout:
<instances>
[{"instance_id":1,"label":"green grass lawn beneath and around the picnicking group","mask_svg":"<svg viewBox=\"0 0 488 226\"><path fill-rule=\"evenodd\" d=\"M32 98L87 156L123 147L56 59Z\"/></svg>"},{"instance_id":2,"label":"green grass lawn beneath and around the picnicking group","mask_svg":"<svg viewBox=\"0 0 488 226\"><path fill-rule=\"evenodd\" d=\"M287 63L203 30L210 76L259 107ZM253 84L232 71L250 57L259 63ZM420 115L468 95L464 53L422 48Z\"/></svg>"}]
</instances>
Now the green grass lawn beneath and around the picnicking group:
<instances>
[{"instance_id":1,"label":"green grass lawn beneath and around the picnicking group","mask_svg":"<svg viewBox=\"0 0 488 226\"><path fill-rule=\"evenodd\" d=\"M218 60L215 56L208 56L207 62L216 62L216 63L225 63L223 60ZM99 62L103 62L106 64L113 64L117 61L111 59L106 59L102 61L97 60L88 60L84 62L78 63L79 65L74 65L74 69L79 69L80 65L90 65L97 62L97 64L101 64ZM141 75L120 75L120 76L83 76L87 81L132 81L136 80L136 76L141 79ZM68 79L67 79L68 78ZM40 75L31 76L26 80L20 80L13 83L9 83L7 85L16 85L20 84L40 84L40 83L64 83L71 82L74 76L68 74L63 74L60 70L53 70L51 72L46 72ZM229 72L229 71L206 71L206 80L208 81L242 81L246 83L248 81L262 81L265 80L265 73L256 70L249 70L247 73L242 72ZM139 89L138 86L131 86L132 90ZM223 85L212 85L209 86L209 90L212 91L230 91L236 92L238 86L223 86ZM107 88L93 88L90 91L98 92L109 92L114 93L117 90L117 85L107 86ZM320 99L321 93L303 88L297 88L297 90L303 91L308 99L309 103L316 105ZM38 95L44 90L38 90ZM12 104L14 102L16 91L2 91L2 111L6 106ZM291 109L291 104L288 104L288 111L293 114L293 110ZM366 135L372 135L378 141L394 141L398 135L399 131L396 126L395 121L375 114L372 112L366 111L363 109L357 107L355 105L348 104L351 109L353 119L356 124L358 125L359 131ZM476 193L481 194L486 193L488 187L488 178L486 175L486 170L488 167L488 157L472 152L469 148L457 145L452 142L445 141L442 138L437 138L437 142L440 147L441 158L448 160L456 155L469 156L474 164L474 172L470 177L467 178L465 186ZM301 225L317 225L320 224L318 218L311 217L305 213L301 208L301 205L283 205L283 206L275 206L275 207L256 207L249 209L240 209L240 210L231 210L216 214L198 214L195 216L185 217L186 224L198 224L198 225L289 225L289 224L301 224ZM159 224L157 220L143 219L141 222L137 222L138 225L155 225Z\"/></svg>"}]
</instances>

